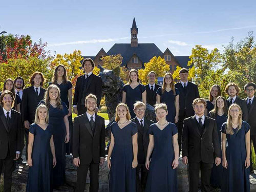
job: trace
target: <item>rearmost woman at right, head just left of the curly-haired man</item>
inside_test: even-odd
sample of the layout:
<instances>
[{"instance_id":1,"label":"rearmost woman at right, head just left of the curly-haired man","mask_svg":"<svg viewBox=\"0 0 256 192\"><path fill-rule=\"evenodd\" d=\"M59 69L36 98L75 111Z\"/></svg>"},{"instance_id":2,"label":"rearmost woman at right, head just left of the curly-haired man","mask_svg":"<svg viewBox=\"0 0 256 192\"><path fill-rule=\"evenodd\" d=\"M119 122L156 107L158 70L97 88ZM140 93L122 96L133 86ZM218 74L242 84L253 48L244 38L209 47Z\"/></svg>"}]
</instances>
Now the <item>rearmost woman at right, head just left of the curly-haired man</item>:
<instances>
[{"instance_id":1,"label":"rearmost woman at right, head just left of the curly-haired man","mask_svg":"<svg viewBox=\"0 0 256 192\"><path fill-rule=\"evenodd\" d=\"M221 96L221 87L215 84L210 88L209 100L206 100L206 108L204 114L207 116L208 113L214 109L217 97Z\"/></svg>"}]
</instances>

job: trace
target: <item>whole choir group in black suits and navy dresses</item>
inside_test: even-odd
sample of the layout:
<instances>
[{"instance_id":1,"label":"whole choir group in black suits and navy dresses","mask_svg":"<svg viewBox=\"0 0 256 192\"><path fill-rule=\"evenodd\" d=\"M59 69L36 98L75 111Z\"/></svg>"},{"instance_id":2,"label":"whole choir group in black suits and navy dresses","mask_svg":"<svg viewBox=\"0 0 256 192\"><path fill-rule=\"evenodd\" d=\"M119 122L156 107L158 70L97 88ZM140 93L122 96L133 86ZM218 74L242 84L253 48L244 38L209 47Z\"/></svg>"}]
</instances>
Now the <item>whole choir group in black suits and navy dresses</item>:
<instances>
[{"instance_id":1,"label":"whole choir group in black suits and navy dresses","mask_svg":"<svg viewBox=\"0 0 256 192\"><path fill-rule=\"evenodd\" d=\"M54 71L47 90L44 75L34 72L31 86L22 77L6 79L0 102L0 174L4 191L11 191L15 162L23 148L29 165L27 192L52 191L65 183L66 154L77 166L76 191L83 192L90 170L90 192L99 190L99 166L105 159L105 122L97 115L101 77L92 73L94 62L82 62L85 72L77 78L72 103L72 83L65 66ZM166 73L163 85L148 73L143 86L136 70L116 107L110 125L107 162L109 192L178 191L179 158L189 167L189 191L249 192L253 173L250 144L256 146L256 85L244 86L247 98L239 98L236 83L217 84L209 98L200 98L196 84L181 69L180 81ZM155 107L154 121L144 117L146 103ZM72 122L73 112L78 114ZM25 137L25 143L24 143ZM26 145L25 145L26 144ZM201 172L201 184L200 173Z\"/></svg>"}]
</instances>

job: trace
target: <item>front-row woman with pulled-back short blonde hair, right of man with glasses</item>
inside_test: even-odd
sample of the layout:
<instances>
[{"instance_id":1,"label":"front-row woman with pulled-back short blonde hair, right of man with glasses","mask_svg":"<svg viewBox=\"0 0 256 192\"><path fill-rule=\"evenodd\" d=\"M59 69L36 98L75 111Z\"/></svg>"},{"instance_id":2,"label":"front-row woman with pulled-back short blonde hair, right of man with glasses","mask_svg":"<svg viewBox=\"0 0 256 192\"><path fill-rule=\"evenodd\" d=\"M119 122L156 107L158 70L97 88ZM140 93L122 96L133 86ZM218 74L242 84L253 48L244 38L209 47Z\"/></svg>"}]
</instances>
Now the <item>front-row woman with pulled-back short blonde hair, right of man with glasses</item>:
<instances>
[{"instance_id":1,"label":"front-row woman with pulled-back short blonde hair, right of man with glasses","mask_svg":"<svg viewBox=\"0 0 256 192\"><path fill-rule=\"evenodd\" d=\"M145 163L146 168L149 169L146 192L177 192L178 129L174 123L166 121L168 114L166 104L156 104L155 112L158 122L152 124L148 130L150 143Z\"/></svg>"}]
</instances>

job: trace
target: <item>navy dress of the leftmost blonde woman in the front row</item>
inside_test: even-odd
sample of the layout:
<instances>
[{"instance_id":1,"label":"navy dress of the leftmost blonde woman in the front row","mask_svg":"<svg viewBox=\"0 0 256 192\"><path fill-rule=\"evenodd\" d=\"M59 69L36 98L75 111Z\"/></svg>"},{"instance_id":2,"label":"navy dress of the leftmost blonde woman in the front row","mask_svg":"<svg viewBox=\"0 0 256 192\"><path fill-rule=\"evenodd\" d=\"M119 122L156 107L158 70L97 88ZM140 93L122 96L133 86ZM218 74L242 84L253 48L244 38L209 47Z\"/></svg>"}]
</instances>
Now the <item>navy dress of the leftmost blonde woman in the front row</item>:
<instances>
[{"instance_id":1,"label":"navy dress of the leftmost blonde woman in the front row","mask_svg":"<svg viewBox=\"0 0 256 192\"><path fill-rule=\"evenodd\" d=\"M52 127L43 130L39 125L32 123L29 132L34 135L32 163L29 167L29 176L26 192L52 191L53 156L50 139L53 135Z\"/></svg>"}]
</instances>

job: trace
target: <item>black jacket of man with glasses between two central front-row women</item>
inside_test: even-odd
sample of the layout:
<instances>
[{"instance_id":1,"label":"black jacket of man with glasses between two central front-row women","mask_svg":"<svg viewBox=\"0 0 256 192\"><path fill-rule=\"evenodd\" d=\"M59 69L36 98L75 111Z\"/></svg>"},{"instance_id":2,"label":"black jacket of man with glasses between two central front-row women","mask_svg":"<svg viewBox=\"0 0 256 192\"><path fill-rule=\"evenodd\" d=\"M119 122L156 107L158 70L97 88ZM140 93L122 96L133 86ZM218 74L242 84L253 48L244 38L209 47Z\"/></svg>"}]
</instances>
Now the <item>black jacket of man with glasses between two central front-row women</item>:
<instances>
[{"instance_id":1,"label":"black jacket of man with glasses between two central front-row women","mask_svg":"<svg viewBox=\"0 0 256 192\"><path fill-rule=\"evenodd\" d=\"M142 130L137 117L133 118L131 121L135 122L138 128L138 163L144 164L146 161L147 147L150 143L150 135L148 134L148 129L154 122L144 118L144 129ZM142 143L141 140L143 141Z\"/></svg>"}]
</instances>

